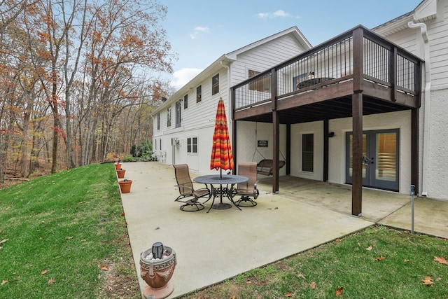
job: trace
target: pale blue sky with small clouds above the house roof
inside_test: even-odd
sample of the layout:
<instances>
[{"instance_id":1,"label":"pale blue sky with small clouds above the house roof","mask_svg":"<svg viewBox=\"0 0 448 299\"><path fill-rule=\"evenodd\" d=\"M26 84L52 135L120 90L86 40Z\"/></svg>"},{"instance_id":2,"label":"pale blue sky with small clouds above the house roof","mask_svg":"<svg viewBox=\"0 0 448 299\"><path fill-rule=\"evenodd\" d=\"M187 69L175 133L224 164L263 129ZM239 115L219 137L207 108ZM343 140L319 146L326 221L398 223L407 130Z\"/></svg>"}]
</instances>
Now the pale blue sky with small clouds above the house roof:
<instances>
[{"instance_id":1,"label":"pale blue sky with small clouds above the house roof","mask_svg":"<svg viewBox=\"0 0 448 299\"><path fill-rule=\"evenodd\" d=\"M296 26L311 46L353 27L368 29L409 13L421 0L159 0L167 6L161 25L177 54L179 89L223 54Z\"/></svg>"}]
</instances>

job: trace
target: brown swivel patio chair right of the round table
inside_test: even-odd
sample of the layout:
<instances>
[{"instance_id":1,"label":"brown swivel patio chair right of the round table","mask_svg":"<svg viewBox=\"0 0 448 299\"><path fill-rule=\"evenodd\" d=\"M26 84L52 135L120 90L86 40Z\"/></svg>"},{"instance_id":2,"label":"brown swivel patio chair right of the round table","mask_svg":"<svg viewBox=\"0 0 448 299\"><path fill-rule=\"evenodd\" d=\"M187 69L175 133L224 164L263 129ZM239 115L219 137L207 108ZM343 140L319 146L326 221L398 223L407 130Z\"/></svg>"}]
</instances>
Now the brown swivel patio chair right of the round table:
<instances>
[{"instance_id":1,"label":"brown swivel patio chair right of the round table","mask_svg":"<svg viewBox=\"0 0 448 299\"><path fill-rule=\"evenodd\" d=\"M233 190L233 195L240 195L241 198L235 202L238 207L255 207L257 199L260 194L257 189L257 163L256 162L241 162L238 165L238 175L246 176L248 181L239 183L237 188ZM253 197L253 200L251 199Z\"/></svg>"}]
</instances>

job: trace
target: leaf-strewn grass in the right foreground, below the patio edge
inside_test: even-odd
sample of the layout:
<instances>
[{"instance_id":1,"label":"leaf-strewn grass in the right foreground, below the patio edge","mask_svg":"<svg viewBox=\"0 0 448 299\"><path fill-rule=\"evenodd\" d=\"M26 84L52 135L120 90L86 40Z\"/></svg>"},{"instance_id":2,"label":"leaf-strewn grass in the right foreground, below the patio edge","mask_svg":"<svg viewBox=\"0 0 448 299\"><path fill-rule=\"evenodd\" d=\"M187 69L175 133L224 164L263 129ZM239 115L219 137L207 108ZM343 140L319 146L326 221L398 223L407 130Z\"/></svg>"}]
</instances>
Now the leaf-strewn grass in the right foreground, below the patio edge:
<instances>
[{"instance_id":1,"label":"leaf-strewn grass in the right foreground, below the patio edge","mask_svg":"<svg viewBox=\"0 0 448 299\"><path fill-rule=\"evenodd\" d=\"M182 298L448 298L435 256L446 239L373 226Z\"/></svg>"}]
</instances>

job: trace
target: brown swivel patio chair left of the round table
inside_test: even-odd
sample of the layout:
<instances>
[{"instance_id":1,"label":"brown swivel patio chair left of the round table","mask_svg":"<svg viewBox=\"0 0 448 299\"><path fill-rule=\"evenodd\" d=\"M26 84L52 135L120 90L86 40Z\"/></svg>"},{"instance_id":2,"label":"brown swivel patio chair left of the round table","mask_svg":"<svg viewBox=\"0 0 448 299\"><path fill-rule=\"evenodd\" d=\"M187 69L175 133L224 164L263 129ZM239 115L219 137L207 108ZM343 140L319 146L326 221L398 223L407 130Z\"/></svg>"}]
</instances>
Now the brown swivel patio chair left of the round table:
<instances>
[{"instance_id":1,"label":"brown swivel patio chair left of the round table","mask_svg":"<svg viewBox=\"0 0 448 299\"><path fill-rule=\"evenodd\" d=\"M176 187L179 188L180 195L176 198L176 202L183 202L181 205L181 211L200 211L204 209L204 206L199 202L201 197L211 197L210 189L201 188L195 190L193 188L193 181L190 178L190 172L188 170L188 165L179 164L173 165L174 174L176 175Z\"/></svg>"}]
</instances>

